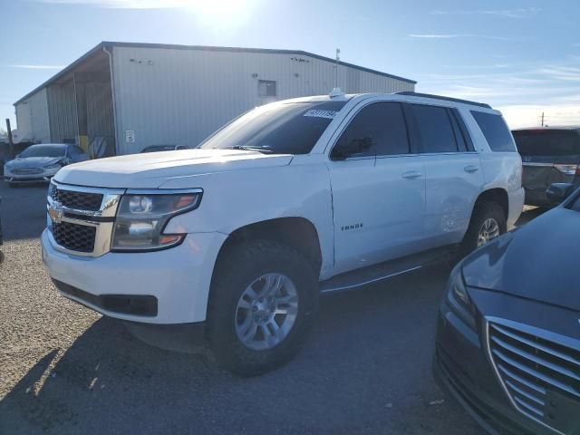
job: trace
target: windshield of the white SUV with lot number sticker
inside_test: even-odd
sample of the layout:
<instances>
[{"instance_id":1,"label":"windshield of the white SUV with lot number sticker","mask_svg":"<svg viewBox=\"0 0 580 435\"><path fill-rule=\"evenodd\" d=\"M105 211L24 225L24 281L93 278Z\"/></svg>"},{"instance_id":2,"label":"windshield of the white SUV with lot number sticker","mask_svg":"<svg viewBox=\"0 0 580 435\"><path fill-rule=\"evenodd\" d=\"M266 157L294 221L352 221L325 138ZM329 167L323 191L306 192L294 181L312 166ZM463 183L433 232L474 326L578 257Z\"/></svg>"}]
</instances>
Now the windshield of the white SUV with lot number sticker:
<instances>
[{"instance_id":1,"label":"windshield of the white SUV with lot number sticker","mask_svg":"<svg viewBox=\"0 0 580 435\"><path fill-rule=\"evenodd\" d=\"M346 102L286 102L247 112L199 148L307 154Z\"/></svg>"}]
</instances>

